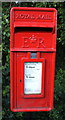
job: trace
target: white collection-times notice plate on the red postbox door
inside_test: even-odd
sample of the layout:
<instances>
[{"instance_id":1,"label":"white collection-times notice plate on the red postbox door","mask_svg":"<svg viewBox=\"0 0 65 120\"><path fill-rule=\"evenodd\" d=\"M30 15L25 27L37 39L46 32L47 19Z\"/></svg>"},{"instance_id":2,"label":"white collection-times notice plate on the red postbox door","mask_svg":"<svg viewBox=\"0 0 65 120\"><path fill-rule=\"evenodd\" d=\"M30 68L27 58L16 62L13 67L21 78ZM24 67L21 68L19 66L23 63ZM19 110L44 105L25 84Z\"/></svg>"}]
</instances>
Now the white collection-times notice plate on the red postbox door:
<instances>
[{"instance_id":1,"label":"white collection-times notice plate on the red postbox door","mask_svg":"<svg viewBox=\"0 0 65 120\"><path fill-rule=\"evenodd\" d=\"M24 63L24 94L41 94L42 62Z\"/></svg>"}]
</instances>

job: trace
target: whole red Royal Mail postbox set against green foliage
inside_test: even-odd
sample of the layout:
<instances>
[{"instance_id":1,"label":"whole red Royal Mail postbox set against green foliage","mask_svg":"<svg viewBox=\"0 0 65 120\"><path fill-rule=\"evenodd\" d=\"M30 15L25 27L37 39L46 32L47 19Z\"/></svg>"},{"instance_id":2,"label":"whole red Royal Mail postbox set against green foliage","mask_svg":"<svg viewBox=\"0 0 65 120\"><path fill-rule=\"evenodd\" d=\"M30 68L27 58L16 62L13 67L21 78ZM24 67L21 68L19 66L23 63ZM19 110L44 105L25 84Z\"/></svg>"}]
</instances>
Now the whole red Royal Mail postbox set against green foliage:
<instances>
[{"instance_id":1,"label":"whole red Royal Mail postbox set against green foliage","mask_svg":"<svg viewBox=\"0 0 65 120\"><path fill-rule=\"evenodd\" d=\"M11 110L53 109L56 10L14 7L10 14Z\"/></svg>"}]
</instances>

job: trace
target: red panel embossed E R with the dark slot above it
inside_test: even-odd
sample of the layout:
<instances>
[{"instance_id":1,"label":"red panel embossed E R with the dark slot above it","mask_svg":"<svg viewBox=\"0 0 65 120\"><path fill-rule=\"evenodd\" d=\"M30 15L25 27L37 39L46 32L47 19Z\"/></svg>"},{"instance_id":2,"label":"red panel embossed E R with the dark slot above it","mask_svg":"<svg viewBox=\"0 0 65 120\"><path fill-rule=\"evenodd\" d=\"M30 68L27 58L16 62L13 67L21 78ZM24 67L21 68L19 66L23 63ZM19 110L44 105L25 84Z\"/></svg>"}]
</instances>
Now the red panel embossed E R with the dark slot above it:
<instances>
[{"instance_id":1,"label":"red panel embossed E R with the dark slot above it","mask_svg":"<svg viewBox=\"0 0 65 120\"><path fill-rule=\"evenodd\" d=\"M15 28L14 48L52 48L52 28Z\"/></svg>"}]
</instances>

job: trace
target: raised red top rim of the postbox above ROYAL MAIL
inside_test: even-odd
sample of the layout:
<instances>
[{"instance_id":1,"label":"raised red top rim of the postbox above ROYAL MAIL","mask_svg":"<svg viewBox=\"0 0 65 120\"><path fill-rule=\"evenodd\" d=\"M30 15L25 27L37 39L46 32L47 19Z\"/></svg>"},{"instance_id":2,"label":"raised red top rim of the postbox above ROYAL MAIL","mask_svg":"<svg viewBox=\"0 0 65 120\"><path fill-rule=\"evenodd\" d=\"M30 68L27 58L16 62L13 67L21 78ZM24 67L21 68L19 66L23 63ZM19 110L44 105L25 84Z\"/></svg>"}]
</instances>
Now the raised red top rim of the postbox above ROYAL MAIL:
<instances>
[{"instance_id":1,"label":"raised red top rim of the postbox above ROYAL MAIL","mask_svg":"<svg viewBox=\"0 0 65 120\"><path fill-rule=\"evenodd\" d=\"M31 11L36 11L36 10L44 10L44 11L52 11L52 12L57 12L55 8L41 8L41 7L12 7L11 12L14 10L31 10Z\"/></svg>"}]
</instances>

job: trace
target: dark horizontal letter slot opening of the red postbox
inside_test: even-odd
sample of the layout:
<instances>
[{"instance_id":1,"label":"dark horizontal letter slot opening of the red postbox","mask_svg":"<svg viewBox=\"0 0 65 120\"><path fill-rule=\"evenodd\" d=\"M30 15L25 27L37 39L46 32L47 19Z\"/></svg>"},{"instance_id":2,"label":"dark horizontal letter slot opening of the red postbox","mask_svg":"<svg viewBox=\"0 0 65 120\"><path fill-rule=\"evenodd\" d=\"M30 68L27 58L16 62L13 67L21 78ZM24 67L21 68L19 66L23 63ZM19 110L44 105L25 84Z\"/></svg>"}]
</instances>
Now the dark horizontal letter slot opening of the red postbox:
<instances>
[{"instance_id":1,"label":"dark horizontal letter slot opening of the red postbox","mask_svg":"<svg viewBox=\"0 0 65 120\"><path fill-rule=\"evenodd\" d=\"M53 28L43 28L43 27L15 27L15 32L22 31L44 31L44 32L52 32Z\"/></svg>"}]
</instances>

